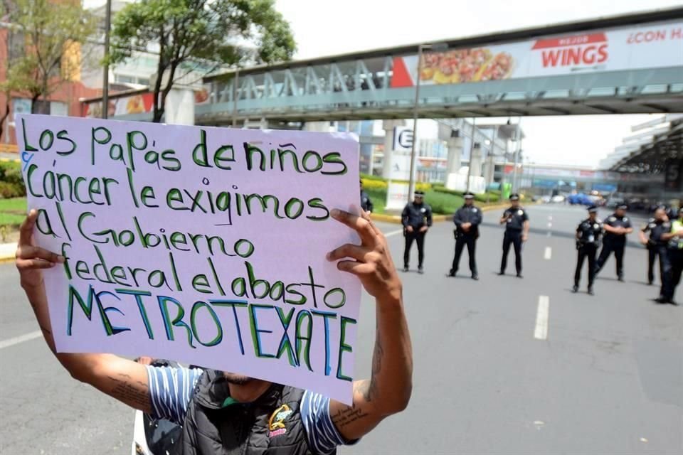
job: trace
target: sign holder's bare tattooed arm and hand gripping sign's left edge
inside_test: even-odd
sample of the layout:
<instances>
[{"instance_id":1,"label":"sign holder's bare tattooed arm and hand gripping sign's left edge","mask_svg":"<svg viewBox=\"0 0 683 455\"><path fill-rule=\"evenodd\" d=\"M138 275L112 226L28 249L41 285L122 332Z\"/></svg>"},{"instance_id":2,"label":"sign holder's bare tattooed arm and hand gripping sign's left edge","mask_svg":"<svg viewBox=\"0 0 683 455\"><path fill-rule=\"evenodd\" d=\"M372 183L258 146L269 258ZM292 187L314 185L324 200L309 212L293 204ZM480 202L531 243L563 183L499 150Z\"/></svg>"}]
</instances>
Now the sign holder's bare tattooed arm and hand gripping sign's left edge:
<instances>
[{"instance_id":1,"label":"sign holder's bare tattooed arm and hand gripping sign's left edge","mask_svg":"<svg viewBox=\"0 0 683 455\"><path fill-rule=\"evenodd\" d=\"M151 412L147 369L144 365L116 355L58 353L55 349L41 270L55 267L64 262L64 258L35 245L33 226L36 216L36 211L31 210L31 214L21 225L16 267L21 277L21 287L26 292L48 347L73 378L86 382L137 410Z\"/></svg>"}]
</instances>

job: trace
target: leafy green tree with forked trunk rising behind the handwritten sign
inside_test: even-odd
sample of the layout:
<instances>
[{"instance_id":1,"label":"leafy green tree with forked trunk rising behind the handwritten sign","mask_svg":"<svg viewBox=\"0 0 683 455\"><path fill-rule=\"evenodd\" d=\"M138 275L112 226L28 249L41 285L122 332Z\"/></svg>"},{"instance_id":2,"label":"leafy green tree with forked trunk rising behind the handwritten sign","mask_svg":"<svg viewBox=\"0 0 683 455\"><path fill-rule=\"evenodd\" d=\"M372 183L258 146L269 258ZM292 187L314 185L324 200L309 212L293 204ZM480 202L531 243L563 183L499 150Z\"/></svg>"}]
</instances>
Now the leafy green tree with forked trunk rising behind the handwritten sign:
<instances>
[{"instance_id":1,"label":"leafy green tree with forked trunk rising behind the handwritten sign","mask_svg":"<svg viewBox=\"0 0 683 455\"><path fill-rule=\"evenodd\" d=\"M287 60L295 50L290 24L273 0L141 0L114 19L111 63L159 46L153 122L161 122L174 82L203 67ZM240 43L242 43L240 45ZM252 46L251 48L248 45Z\"/></svg>"}]
</instances>

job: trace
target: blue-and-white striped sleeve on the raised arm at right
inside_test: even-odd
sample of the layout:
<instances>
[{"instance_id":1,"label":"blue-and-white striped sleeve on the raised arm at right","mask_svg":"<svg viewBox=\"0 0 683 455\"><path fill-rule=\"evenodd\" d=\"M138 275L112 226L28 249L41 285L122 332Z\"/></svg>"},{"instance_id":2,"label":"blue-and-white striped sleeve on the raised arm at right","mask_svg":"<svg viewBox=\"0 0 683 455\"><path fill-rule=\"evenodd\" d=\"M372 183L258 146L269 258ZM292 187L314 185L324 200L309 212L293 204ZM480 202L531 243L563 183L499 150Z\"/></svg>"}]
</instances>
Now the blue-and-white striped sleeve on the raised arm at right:
<instances>
[{"instance_id":1,"label":"blue-and-white striped sleeve on the raised arm at right","mask_svg":"<svg viewBox=\"0 0 683 455\"><path fill-rule=\"evenodd\" d=\"M332 454L337 446L356 444L346 441L339 434L329 415L329 398L306 390L301 399L301 419L308 438L308 444L315 454Z\"/></svg>"}]
</instances>

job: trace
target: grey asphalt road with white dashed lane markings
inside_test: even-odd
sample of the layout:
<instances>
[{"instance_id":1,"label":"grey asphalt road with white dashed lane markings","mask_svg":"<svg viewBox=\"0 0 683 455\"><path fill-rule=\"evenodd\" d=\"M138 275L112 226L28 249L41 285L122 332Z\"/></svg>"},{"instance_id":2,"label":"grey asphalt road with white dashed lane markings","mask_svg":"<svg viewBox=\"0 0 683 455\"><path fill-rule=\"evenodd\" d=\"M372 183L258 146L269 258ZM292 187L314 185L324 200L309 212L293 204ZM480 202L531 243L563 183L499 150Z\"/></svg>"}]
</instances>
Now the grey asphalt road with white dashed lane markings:
<instances>
[{"instance_id":1,"label":"grey asphalt road with white dashed lane markings","mask_svg":"<svg viewBox=\"0 0 683 455\"><path fill-rule=\"evenodd\" d=\"M496 275L499 213L485 214L479 282L469 279L466 252L459 277L445 277L450 223L428 233L426 273L402 274L411 404L341 454L682 453L683 306L650 300L657 289L645 283L646 252L633 242L625 283L612 258L595 296L585 282L571 294L573 229L585 210L540 205L529 214L524 279ZM403 237L388 240L400 265ZM0 266L0 287L0 453L129 454L132 411L71 380L40 338L2 343L37 326L13 265ZM358 378L369 375L374 325L364 297Z\"/></svg>"}]
</instances>

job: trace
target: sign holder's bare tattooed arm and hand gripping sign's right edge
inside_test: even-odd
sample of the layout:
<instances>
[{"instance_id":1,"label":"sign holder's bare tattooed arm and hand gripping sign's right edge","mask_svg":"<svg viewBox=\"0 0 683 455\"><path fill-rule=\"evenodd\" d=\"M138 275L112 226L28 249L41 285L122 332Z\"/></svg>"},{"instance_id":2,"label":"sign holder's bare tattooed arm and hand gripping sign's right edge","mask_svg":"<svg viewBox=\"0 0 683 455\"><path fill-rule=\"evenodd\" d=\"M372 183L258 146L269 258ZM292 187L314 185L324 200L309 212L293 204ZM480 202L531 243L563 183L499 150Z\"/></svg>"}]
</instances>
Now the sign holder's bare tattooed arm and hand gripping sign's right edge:
<instances>
[{"instance_id":1,"label":"sign holder's bare tattooed arm and hand gripping sign's right edge","mask_svg":"<svg viewBox=\"0 0 683 455\"><path fill-rule=\"evenodd\" d=\"M344 245L328 255L342 260L340 270L355 274L376 301L376 334L369 380L354 382L353 405L330 401L332 422L345 439L370 432L384 418L406 409L413 388L413 353L403 311L401 280L386 239L366 216L333 211L332 216L354 228L362 245Z\"/></svg>"}]
</instances>

